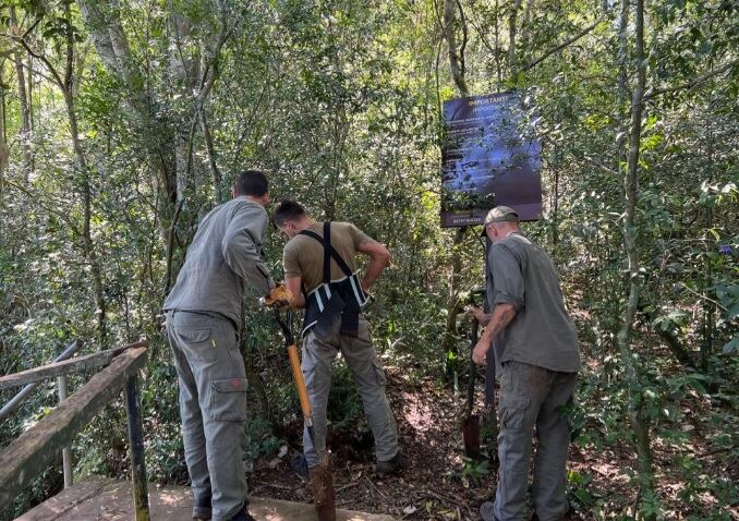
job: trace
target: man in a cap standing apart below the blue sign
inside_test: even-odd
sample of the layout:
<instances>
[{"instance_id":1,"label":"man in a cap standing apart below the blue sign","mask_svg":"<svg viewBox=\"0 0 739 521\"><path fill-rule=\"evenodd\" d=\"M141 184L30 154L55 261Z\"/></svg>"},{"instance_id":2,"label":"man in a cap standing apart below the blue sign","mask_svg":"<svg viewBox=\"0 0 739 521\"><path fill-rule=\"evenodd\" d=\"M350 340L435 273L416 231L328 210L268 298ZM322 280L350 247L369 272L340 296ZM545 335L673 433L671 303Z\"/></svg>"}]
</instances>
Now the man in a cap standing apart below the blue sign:
<instances>
[{"instance_id":1,"label":"man in a cap standing apart below the blue sign","mask_svg":"<svg viewBox=\"0 0 739 521\"><path fill-rule=\"evenodd\" d=\"M485 365L495 349L500 374L498 487L495 502L480 508L485 521L523 520L536 431L532 502L541 521L562 519L570 429L562 407L572 399L580 369L578 337L567 314L549 255L519 228L512 208L498 206L484 221L493 242L487 256L490 314L470 310L485 331L472 358Z\"/></svg>"}]
</instances>

